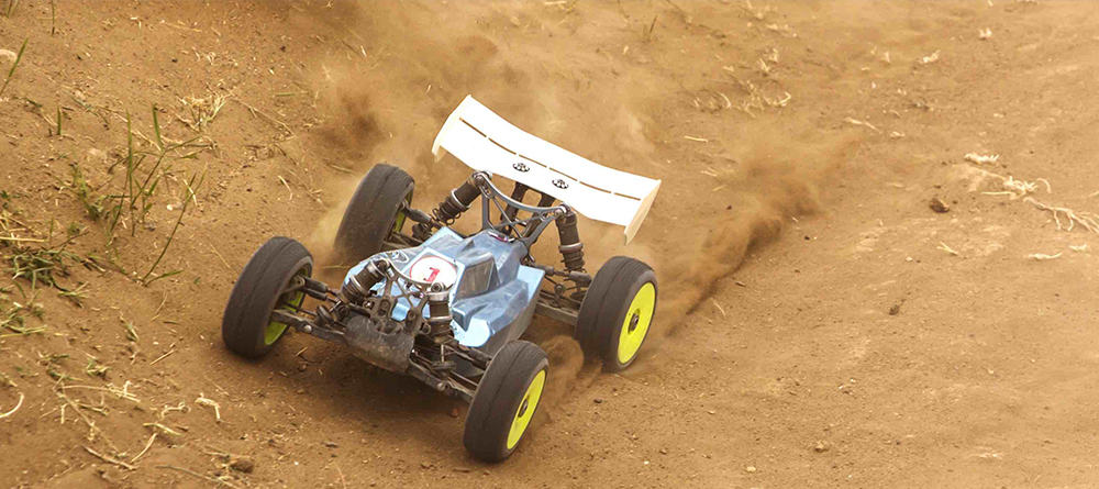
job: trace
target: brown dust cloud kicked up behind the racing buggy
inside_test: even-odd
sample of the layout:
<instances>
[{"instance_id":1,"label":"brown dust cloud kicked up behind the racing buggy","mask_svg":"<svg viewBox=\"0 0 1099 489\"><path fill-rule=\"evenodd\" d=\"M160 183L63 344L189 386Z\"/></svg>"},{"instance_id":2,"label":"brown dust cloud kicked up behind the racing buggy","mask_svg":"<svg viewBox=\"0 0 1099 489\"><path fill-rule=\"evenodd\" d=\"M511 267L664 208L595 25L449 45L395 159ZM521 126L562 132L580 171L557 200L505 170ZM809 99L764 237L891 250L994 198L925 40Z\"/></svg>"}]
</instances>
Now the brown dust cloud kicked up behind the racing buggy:
<instances>
[{"instance_id":1,"label":"brown dust cloud kicked up behind the racing buggy","mask_svg":"<svg viewBox=\"0 0 1099 489\"><path fill-rule=\"evenodd\" d=\"M311 81L324 114L323 143L343 148L347 160L338 164L352 170L325 189L336 204L309 240L314 249L332 242L344 203L375 163L409 171L417 182L413 204L424 210L460 184L467 168L451 158L435 162L430 149L446 115L474 95L540 137L601 164L664 180L648 222L630 246L622 246L620 229L588 220L580 227L589 271L613 255L654 265L662 305L652 336L658 343L754 246L778 235L791 216L819 210L819 185L854 147L854 140L823 138L818 127L752 121L708 146L701 157L720 170L721 190L702 189L698 175L681 169L684 158L698 156L676 153L669 144L682 136L667 121L691 116L687 111L692 109L666 98L681 89L680 80L643 70L623 84L610 75L577 73L563 62L599 66L606 54L598 49L504 44L485 25L515 24L515 18L501 20L491 3L468 3L460 12L422 7L413 15L390 3L368 9L340 3L338 12L311 18L331 35L344 37L347 46L315 60ZM468 214L475 213L467 213L471 220L464 229L475 229L477 216ZM535 255L558 262L555 241L555 233L546 233ZM567 336L554 336L545 347L565 360L551 386L551 397L562 399L582 384L581 369L574 365L581 355Z\"/></svg>"}]
</instances>

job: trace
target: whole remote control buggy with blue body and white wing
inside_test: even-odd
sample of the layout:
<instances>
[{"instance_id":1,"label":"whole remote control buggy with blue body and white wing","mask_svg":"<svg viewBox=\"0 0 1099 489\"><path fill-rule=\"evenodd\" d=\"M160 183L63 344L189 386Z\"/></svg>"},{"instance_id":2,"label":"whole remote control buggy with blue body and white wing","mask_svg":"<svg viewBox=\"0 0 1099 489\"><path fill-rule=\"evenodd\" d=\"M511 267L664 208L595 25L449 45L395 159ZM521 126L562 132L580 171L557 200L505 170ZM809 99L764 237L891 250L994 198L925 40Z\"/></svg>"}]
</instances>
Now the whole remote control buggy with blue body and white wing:
<instances>
[{"instance_id":1,"label":"whole remote control buggy with blue body and white wing","mask_svg":"<svg viewBox=\"0 0 1099 489\"><path fill-rule=\"evenodd\" d=\"M463 442L498 462L519 445L550 375L545 352L521 340L533 315L568 323L585 354L618 371L630 366L656 310L656 276L615 256L585 268L577 213L625 226L629 242L660 181L614 170L511 125L471 97L435 138L474 169L430 212L412 208L413 179L377 165L363 178L335 237L340 287L311 278L313 259L288 237L252 256L225 307L222 337L259 357L288 329L346 345L366 362L469 402ZM514 182L502 191L497 178ZM524 203L524 198L537 203ZM480 230L455 220L481 200ZM532 246L557 229L563 266ZM311 298L311 305L306 305Z\"/></svg>"}]
</instances>

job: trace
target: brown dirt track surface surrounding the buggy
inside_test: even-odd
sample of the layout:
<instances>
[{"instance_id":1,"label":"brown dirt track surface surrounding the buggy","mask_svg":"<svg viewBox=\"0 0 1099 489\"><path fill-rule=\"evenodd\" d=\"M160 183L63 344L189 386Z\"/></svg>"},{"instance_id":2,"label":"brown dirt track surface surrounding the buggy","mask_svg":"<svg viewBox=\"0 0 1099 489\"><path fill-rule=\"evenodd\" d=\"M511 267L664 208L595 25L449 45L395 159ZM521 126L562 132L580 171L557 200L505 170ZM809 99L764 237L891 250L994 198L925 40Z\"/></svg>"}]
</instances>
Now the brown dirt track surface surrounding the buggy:
<instances>
[{"instance_id":1,"label":"brown dirt track surface surrounding the buggy","mask_svg":"<svg viewBox=\"0 0 1099 489\"><path fill-rule=\"evenodd\" d=\"M0 413L23 399L0 484L1099 485L1099 4L334 3L0 16L0 49L27 40L0 93L4 275L67 241L54 276L77 290L0 279ZM590 263L657 268L643 356L599 374L536 324L551 401L493 466L462 449L457 401L300 334L244 362L219 332L251 253L281 234L323 257L374 163L420 208L460 181L430 147L467 93L664 180L630 246L581 229ZM126 114L137 151L189 143L110 241L84 202L125 188ZM142 285L145 279L182 271Z\"/></svg>"}]
</instances>

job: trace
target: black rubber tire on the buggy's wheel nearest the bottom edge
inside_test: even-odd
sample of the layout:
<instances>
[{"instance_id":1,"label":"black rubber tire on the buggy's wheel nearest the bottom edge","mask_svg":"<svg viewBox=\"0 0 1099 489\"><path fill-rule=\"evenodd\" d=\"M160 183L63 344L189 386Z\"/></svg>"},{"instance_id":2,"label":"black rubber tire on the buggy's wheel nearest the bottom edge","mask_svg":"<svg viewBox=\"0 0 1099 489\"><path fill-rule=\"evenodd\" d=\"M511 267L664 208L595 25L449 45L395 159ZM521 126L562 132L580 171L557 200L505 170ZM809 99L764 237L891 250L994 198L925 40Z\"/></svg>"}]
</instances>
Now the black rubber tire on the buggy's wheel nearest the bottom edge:
<instances>
[{"instance_id":1,"label":"black rubber tire on the buggy's wheel nearest the bottom edge","mask_svg":"<svg viewBox=\"0 0 1099 489\"><path fill-rule=\"evenodd\" d=\"M508 447L508 434L528 388L542 370L546 371L546 382L548 382L550 360L546 353L533 343L514 341L496 354L477 386L474 401L466 414L465 434L462 440L474 457L482 462L500 462L511 456L522 444L526 433L531 431L530 424L511 448ZM543 385L542 399L544 396ZM537 414L541 404L540 399L534 405L532 419Z\"/></svg>"}]
</instances>

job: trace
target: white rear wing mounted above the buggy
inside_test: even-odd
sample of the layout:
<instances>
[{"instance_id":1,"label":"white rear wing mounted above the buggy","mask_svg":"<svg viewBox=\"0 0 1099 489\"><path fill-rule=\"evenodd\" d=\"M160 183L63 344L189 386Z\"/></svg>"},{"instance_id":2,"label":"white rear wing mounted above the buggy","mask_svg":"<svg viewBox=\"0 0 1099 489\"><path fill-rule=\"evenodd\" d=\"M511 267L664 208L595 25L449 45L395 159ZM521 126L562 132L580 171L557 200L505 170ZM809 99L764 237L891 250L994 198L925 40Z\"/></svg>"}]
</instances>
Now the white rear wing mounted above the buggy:
<instances>
[{"instance_id":1,"label":"white rear wing mounted above the buggy","mask_svg":"<svg viewBox=\"0 0 1099 489\"><path fill-rule=\"evenodd\" d=\"M660 180L599 165L511 125L467 96L435 136L439 160L449 152L475 170L522 182L597 221L625 226L629 243L653 205Z\"/></svg>"}]
</instances>

